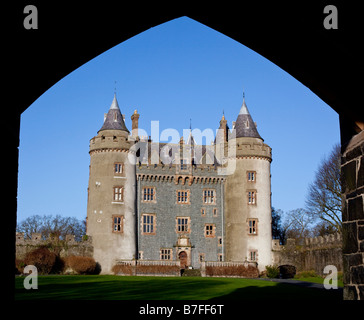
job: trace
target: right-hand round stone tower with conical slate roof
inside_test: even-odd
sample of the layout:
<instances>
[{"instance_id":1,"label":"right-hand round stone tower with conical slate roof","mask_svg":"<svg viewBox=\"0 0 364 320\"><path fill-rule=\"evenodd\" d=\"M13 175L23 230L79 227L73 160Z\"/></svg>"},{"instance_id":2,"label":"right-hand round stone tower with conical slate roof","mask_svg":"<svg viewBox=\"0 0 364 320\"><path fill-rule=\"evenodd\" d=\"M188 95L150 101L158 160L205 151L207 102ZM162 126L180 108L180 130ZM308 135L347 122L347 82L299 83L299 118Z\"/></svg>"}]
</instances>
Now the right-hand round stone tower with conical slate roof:
<instances>
[{"instance_id":1,"label":"right-hand round stone tower with conical slate roof","mask_svg":"<svg viewBox=\"0 0 364 320\"><path fill-rule=\"evenodd\" d=\"M229 139L235 170L225 184L225 261L256 261L260 271L271 264L272 149L259 135L243 98Z\"/></svg>"}]
</instances>

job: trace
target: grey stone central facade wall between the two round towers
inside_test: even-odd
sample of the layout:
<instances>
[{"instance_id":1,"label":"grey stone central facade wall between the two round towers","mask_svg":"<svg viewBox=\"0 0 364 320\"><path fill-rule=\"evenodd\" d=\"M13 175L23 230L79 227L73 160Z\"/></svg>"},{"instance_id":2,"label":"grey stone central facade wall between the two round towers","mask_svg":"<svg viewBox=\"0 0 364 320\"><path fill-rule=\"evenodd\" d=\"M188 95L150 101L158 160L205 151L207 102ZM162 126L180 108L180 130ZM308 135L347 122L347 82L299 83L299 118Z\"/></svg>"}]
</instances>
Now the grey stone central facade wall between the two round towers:
<instances>
[{"instance_id":1,"label":"grey stone central facade wall between the two round towers","mask_svg":"<svg viewBox=\"0 0 364 320\"><path fill-rule=\"evenodd\" d=\"M223 236L222 216L222 179L214 169L193 169L193 176L180 178L176 166L158 166L137 168L138 175L138 250L145 260L159 260L162 248L172 249L173 260L178 260L178 254L185 251L188 255L188 265L200 268L200 254L205 261L218 261L219 254L223 254L223 245L219 238ZM190 180L193 180L190 184ZM155 188L155 202L143 202L144 187ZM211 189L215 192L214 204L203 202L203 191ZM189 203L179 204L176 200L177 190L189 190ZM202 214L201 210L204 210ZM214 214L214 210L215 214ZM145 213L155 215L155 234L143 234L142 216ZM190 219L187 232L178 233L177 217ZM214 236L205 237L205 225L214 225ZM178 243L178 239L185 237L186 243Z\"/></svg>"}]
</instances>

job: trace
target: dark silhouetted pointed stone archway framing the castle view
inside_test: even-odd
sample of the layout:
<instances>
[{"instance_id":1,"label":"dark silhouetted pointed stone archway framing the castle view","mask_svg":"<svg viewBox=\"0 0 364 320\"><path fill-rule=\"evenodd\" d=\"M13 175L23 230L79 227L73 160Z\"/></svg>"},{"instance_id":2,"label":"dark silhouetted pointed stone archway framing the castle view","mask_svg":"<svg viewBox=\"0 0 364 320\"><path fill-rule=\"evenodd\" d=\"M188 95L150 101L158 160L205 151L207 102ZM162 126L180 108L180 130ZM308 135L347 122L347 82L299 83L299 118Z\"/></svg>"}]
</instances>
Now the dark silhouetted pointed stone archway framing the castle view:
<instances>
[{"instance_id":1,"label":"dark silhouetted pointed stone archway framing the castle view","mask_svg":"<svg viewBox=\"0 0 364 320\"><path fill-rule=\"evenodd\" d=\"M9 238L14 236L16 225L21 113L58 80L90 59L148 28L187 15L263 55L339 113L343 154L344 295L347 299L364 299L364 108L360 104L362 83L357 80L364 71L360 56L364 26L363 11L358 4L353 10L351 3L340 3L339 30L324 29L320 1L304 6L292 3L289 8L278 3L264 6L244 3L243 10L234 10L229 4L216 8L210 4L202 10L195 4L186 4L166 10L155 3L148 7L132 2L123 3L119 8L117 4L110 7L107 3L98 6L73 3L72 10L54 10L50 4L42 4L38 8L42 15L39 30L23 28L22 6L21 2L14 2L5 8L17 17L13 20L15 27L11 28L13 34L5 39L7 50L3 58L11 66L3 77L12 84L4 100L15 101L2 110L7 119L3 123L6 133L3 149L7 150L7 171L11 172L7 183L11 187L5 188L4 198L9 199L8 205L15 212L15 216L5 216ZM96 21L90 19L96 16ZM19 75L31 80L36 77L37 81L19 81ZM14 246L6 252L7 261L12 261ZM12 269L9 264L9 274Z\"/></svg>"}]
</instances>

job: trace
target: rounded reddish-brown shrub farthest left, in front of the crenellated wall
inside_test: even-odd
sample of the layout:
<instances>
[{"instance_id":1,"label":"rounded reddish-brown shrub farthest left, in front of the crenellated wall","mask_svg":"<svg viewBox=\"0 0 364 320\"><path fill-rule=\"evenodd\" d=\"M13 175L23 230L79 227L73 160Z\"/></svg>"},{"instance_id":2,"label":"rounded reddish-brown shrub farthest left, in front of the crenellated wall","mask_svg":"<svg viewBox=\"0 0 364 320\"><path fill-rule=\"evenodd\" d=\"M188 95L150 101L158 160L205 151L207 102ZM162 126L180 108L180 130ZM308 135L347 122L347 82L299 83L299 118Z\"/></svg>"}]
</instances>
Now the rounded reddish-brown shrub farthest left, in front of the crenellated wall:
<instances>
[{"instance_id":1,"label":"rounded reddish-brown shrub farthest left, in front of the crenellated wall","mask_svg":"<svg viewBox=\"0 0 364 320\"><path fill-rule=\"evenodd\" d=\"M49 274L56 263L56 254L47 247L39 247L26 254L24 263L34 265L39 274Z\"/></svg>"}]
</instances>

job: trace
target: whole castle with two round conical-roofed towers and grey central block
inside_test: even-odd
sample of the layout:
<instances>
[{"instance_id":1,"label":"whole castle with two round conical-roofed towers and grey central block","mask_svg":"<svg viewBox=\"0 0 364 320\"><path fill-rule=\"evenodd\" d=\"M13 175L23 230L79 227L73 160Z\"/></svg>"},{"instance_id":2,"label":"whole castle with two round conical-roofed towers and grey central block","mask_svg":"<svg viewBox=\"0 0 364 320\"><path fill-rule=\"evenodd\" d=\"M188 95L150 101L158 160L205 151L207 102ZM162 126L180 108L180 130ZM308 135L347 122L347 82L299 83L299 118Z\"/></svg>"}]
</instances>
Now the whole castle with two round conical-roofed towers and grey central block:
<instances>
[{"instance_id":1,"label":"whole castle with two round conical-roofed towers and grey central block","mask_svg":"<svg viewBox=\"0 0 364 320\"><path fill-rule=\"evenodd\" d=\"M90 140L87 234L102 273L118 260L272 264L271 148L243 103L233 128L224 116L211 145L138 135L116 95Z\"/></svg>"}]
</instances>

